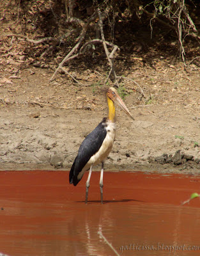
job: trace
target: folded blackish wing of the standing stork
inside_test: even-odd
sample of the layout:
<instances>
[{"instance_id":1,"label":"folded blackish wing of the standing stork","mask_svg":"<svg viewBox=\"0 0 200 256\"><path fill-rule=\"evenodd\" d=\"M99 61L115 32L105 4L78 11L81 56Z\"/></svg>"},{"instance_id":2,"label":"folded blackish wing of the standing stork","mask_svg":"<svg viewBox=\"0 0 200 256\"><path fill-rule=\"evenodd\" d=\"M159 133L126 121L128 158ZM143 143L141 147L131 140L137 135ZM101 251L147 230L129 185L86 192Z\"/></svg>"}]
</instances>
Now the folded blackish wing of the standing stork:
<instances>
[{"instance_id":1,"label":"folded blackish wing of the standing stork","mask_svg":"<svg viewBox=\"0 0 200 256\"><path fill-rule=\"evenodd\" d=\"M98 152L101 147L105 136L105 118L98 124L91 133L82 141L81 147L79 148L79 152L77 157L75 158L72 168L70 170L70 184L73 183L76 186L79 183L79 179L77 176L82 171L82 168L88 163L90 157L92 157L96 152Z\"/></svg>"}]
</instances>

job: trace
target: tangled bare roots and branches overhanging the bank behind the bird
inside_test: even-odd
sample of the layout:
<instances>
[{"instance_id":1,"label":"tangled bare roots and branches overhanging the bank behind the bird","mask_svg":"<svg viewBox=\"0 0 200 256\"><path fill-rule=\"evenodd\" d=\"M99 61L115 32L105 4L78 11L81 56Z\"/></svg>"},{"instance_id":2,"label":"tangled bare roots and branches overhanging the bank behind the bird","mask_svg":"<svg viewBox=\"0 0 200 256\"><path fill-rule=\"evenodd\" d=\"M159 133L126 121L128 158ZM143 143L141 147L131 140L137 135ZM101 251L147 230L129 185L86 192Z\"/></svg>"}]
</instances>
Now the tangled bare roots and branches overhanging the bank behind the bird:
<instances>
[{"instance_id":1,"label":"tangled bare roots and branches overhanging the bank behind the bird","mask_svg":"<svg viewBox=\"0 0 200 256\"><path fill-rule=\"evenodd\" d=\"M26 1L24 1L26 2ZM28 1L27 1L28 2ZM124 77L123 74L120 74L121 76L118 76L116 74L116 68L114 65L114 60L116 57L116 52L119 50L118 45L113 44L112 42L108 42L109 40L105 40L105 28L104 24L106 24L106 20L115 19L115 17L118 17L118 20L124 20L128 21L129 18L133 17L133 14L135 13L139 19L142 18L142 13L145 13L144 17L148 17L147 19L150 19L150 22L152 20L157 20L160 24L167 26L170 31L176 31L178 43L179 43L179 49L180 49L180 56L183 60L184 65L186 66L185 61L185 37L186 36L193 36L196 38L196 40L199 42L200 36L197 34L197 28L194 24L194 21L192 20L192 16L190 16L188 12L188 5L185 4L185 0L177 0L177 1L152 1L151 3L147 4L146 6L142 6L142 4L145 3L145 1L141 0L133 0L133 1L93 1L93 3L89 4L90 11L87 10L87 15L77 15L76 10L79 8L83 8L82 3L79 3L79 1L75 0L64 0L63 7L65 9L65 12L62 13L62 15L65 16L65 26L68 28L63 35L61 36L55 36L52 33L43 33L42 35L53 35L53 36L47 36L44 38L40 38L38 40L31 39L28 36L25 35L16 35L16 33L13 33L8 36L12 36L11 41L11 48L13 43L13 38L23 38L20 40L26 40L27 42L30 42L31 44L35 45L45 45L45 50L39 52L37 56L38 58L43 58L44 56L50 55L54 49L60 45L62 42L66 42L66 45L70 49L68 52L66 52L65 58L59 62L58 67L54 68L54 74L52 77L50 77L50 81L53 81L56 77L56 74L59 71L65 72L68 76L72 77L73 81L75 83L78 83L82 85L72 74L70 74L69 69L67 67L67 64L70 60L73 60L75 58L79 58L79 56L84 56L87 58L89 45L95 45L95 44L102 44L104 47L105 56L107 58L107 61L109 63L109 74L107 75L106 79L104 79L104 83L107 84L109 79L112 81L114 85L117 87L119 86L119 79L127 79L129 81L132 81L132 83L136 84L139 88L139 92L141 93L142 97L145 98L144 92L141 88L141 86L134 81L134 79L131 79L129 77ZM42 12L42 6L43 4L46 4L46 10L43 10ZM49 3L49 4L48 4ZM50 11L53 13L54 17L56 17L56 12L53 10L53 6L56 6L56 1L41 1L40 6L38 7L37 4L30 4L31 9L29 10L30 13L32 13L32 17L35 17L35 14L38 15L38 17L43 17L41 13L45 13L44 11ZM74 6L76 6L75 8ZM120 5L121 4L121 5ZM159 10L159 6L162 6L161 10ZM168 5L167 5L168 4ZM17 8L17 22L20 22L20 19L27 19L28 15L24 16L22 15L22 4L19 1L18 8ZM50 8L49 8L50 6ZM153 11L152 8L148 8L148 6L154 6L155 10ZM167 7L166 7L167 6ZM58 6L57 6L58 7ZM86 9L86 7L84 7ZM120 9L121 8L121 9ZM127 11L126 14L125 12ZM46 16L47 17L47 16ZM81 17L81 18L80 18ZM111 18L112 17L112 18ZM165 19L162 19L165 17ZM59 17L60 18L60 17ZM167 19L168 20L167 20ZM63 20L64 19L58 19ZM123 20L123 21L124 21ZM130 19L131 20L131 19ZM36 20L35 20L36 21ZM59 21L58 21L59 22ZM58 24L58 22L56 24ZM16 23L16 21L15 21ZM25 22L26 23L26 22ZM34 22L33 22L34 23ZM35 24L37 24L35 22ZM112 28L113 29L113 28ZM151 29L153 29L153 26L151 25ZM62 30L61 30L62 31ZM56 34L60 35L60 33ZM70 41L68 39L72 38L73 41ZM70 41L70 43L69 43ZM72 44L71 44L72 42ZM71 48L70 48L71 47ZM95 47L94 47L95 48ZM9 49L8 49L9 51ZM7 52L8 52L7 51ZM199 57L197 57L199 58ZM194 58L193 60L195 60ZM192 61L193 61L192 60ZM190 63L192 63L190 61ZM46 60L43 61L37 61L37 63L34 63L35 67L49 67L49 65L46 63ZM102 76L102 74L101 74ZM102 79L104 76L102 76Z\"/></svg>"}]
</instances>

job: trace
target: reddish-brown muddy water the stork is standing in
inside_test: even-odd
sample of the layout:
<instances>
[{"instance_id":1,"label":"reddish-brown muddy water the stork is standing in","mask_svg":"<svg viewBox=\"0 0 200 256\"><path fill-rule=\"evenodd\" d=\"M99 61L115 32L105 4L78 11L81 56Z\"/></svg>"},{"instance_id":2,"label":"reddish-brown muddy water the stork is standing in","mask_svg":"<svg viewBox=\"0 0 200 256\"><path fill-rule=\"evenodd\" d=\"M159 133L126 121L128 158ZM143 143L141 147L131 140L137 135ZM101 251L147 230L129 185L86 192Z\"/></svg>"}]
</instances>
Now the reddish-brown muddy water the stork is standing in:
<instances>
[{"instance_id":1,"label":"reddish-brown muddy water the stork is standing in","mask_svg":"<svg viewBox=\"0 0 200 256\"><path fill-rule=\"evenodd\" d=\"M68 172L0 172L0 252L23 255L199 255L200 177L93 172L88 205L85 182ZM179 247L176 247L179 246Z\"/></svg>"}]
</instances>

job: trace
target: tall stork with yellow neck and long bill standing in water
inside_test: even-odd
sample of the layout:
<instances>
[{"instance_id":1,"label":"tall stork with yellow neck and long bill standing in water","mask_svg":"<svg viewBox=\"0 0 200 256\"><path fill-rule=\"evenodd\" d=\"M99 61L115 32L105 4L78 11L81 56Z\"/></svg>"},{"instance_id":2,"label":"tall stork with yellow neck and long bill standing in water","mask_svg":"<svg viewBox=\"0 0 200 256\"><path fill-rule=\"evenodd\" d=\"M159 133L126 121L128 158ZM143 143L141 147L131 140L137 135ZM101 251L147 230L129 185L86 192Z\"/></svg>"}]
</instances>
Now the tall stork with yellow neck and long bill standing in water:
<instances>
[{"instance_id":1,"label":"tall stork with yellow neck and long bill standing in water","mask_svg":"<svg viewBox=\"0 0 200 256\"><path fill-rule=\"evenodd\" d=\"M70 184L77 186L82 179L84 172L89 170L88 180L86 181L86 204L88 202L89 180L93 166L102 163L100 173L100 194L103 204L103 175L104 161L111 152L116 132L116 117L114 102L120 106L130 118L134 119L127 107L119 97L118 92L113 87L107 90L107 104L109 106L109 115L104 118L100 124L82 141L77 157L70 170Z\"/></svg>"}]
</instances>

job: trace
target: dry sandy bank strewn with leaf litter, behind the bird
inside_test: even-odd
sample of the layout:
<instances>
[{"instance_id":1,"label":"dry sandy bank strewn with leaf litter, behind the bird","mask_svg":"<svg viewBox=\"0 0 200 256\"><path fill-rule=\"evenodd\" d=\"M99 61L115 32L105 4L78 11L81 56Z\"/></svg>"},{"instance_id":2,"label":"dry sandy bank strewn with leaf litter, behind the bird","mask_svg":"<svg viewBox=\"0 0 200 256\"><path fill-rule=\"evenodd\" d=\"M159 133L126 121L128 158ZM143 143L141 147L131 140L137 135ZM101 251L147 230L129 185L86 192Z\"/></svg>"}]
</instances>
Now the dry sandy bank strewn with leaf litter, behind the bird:
<instances>
[{"instance_id":1,"label":"dry sandy bank strewn with leaf litter, behind the bird","mask_svg":"<svg viewBox=\"0 0 200 256\"><path fill-rule=\"evenodd\" d=\"M107 115L104 86L95 83L101 77L80 72L80 86L64 75L49 83L50 69L0 70L1 170L69 170L84 137ZM199 172L199 68L190 65L185 72L180 63L161 58L127 76L142 86L146 99L132 90L138 90L135 84L123 83L135 120L117 109L116 141L105 168Z\"/></svg>"}]
</instances>

